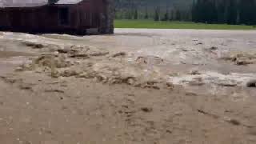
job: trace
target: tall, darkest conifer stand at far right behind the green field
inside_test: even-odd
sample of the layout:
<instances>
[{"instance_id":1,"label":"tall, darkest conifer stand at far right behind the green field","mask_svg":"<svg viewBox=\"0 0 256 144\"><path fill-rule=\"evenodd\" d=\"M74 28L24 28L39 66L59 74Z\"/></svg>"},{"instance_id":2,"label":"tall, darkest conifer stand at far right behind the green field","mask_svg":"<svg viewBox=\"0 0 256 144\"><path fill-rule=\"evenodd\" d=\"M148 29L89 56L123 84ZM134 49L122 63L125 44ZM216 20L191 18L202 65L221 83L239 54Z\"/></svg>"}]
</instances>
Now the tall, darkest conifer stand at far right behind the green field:
<instances>
[{"instance_id":1,"label":"tall, darkest conifer stand at far right behind the green field","mask_svg":"<svg viewBox=\"0 0 256 144\"><path fill-rule=\"evenodd\" d=\"M256 24L255 0L197 0L192 7L193 22Z\"/></svg>"}]
</instances>

